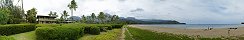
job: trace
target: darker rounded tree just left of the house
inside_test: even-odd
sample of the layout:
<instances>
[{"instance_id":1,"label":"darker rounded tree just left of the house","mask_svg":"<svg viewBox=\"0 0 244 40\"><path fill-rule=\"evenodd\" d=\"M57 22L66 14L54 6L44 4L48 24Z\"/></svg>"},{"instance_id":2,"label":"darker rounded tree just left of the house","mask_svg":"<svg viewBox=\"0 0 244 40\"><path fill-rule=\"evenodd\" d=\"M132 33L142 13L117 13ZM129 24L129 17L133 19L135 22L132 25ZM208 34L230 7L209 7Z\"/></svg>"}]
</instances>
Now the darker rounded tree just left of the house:
<instances>
[{"instance_id":1,"label":"darker rounded tree just left of the house","mask_svg":"<svg viewBox=\"0 0 244 40\"><path fill-rule=\"evenodd\" d=\"M36 14L37 14L37 11L36 11L36 8L32 8L31 10L28 10L27 11L27 21L29 23L36 23Z\"/></svg>"}]
</instances>

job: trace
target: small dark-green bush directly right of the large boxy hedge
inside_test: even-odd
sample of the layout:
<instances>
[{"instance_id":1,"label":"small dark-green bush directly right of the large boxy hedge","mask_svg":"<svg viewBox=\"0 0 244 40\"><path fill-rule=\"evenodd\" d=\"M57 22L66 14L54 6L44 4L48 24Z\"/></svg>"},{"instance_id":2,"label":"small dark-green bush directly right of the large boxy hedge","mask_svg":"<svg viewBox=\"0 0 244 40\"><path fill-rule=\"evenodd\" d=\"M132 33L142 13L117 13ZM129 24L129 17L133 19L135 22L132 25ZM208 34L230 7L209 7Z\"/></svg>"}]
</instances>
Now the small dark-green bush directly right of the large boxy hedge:
<instances>
[{"instance_id":1,"label":"small dark-green bush directly right of the large boxy hedge","mask_svg":"<svg viewBox=\"0 0 244 40\"><path fill-rule=\"evenodd\" d=\"M97 26L85 26L85 33L98 35L100 34L100 28Z\"/></svg>"}]
</instances>

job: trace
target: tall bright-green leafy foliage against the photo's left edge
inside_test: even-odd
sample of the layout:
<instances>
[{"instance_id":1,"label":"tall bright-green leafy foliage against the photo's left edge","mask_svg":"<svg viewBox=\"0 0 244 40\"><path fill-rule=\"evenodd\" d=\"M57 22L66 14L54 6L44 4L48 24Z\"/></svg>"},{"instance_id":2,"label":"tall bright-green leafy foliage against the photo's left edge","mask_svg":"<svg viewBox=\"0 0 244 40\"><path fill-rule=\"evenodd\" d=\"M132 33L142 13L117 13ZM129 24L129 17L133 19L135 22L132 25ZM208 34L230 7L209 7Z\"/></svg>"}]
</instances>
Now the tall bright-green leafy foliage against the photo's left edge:
<instances>
[{"instance_id":1,"label":"tall bright-green leafy foliage against the photo's left edge","mask_svg":"<svg viewBox=\"0 0 244 40\"><path fill-rule=\"evenodd\" d=\"M25 16L24 10L20 6L13 5L13 0L0 0L0 12L1 16L5 14L7 15L5 17L8 18L4 19L5 21L0 21L1 23L18 24L25 22L23 18Z\"/></svg>"}]
</instances>

